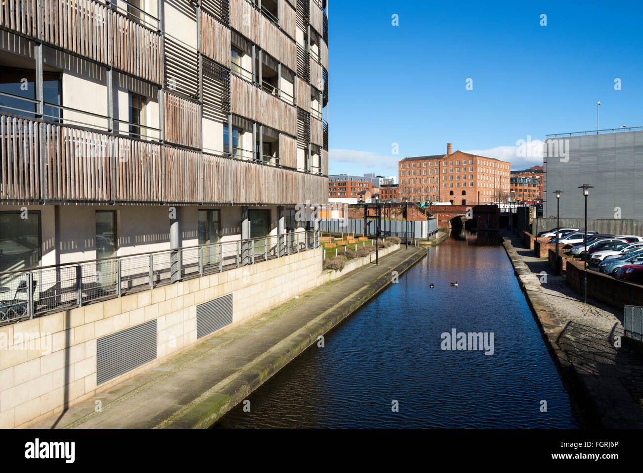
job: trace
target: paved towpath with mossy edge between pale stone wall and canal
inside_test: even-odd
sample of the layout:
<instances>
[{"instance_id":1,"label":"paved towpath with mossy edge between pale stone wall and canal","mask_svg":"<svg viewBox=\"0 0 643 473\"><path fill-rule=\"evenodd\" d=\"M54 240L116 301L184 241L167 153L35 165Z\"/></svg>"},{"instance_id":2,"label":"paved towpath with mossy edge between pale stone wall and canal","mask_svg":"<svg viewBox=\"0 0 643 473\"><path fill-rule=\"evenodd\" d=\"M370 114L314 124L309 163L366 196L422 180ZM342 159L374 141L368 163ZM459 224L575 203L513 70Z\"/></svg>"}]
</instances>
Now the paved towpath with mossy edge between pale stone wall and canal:
<instances>
[{"instance_id":1,"label":"paved towpath with mossy edge between pale stone wall and canal","mask_svg":"<svg viewBox=\"0 0 643 473\"><path fill-rule=\"evenodd\" d=\"M208 427L425 253L403 248L361 266L34 427Z\"/></svg>"}]
</instances>

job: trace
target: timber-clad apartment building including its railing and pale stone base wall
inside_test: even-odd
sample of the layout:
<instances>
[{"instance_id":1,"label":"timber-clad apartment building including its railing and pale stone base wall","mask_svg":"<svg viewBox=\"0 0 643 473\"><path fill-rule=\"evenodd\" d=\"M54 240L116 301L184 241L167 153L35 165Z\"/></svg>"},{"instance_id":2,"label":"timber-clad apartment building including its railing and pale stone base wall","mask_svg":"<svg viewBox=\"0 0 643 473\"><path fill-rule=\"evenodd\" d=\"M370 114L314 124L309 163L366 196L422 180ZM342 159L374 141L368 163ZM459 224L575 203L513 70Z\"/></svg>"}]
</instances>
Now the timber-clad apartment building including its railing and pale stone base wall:
<instances>
[{"instance_id":1,"label":"timber-clad apartment building including its railing and pale stone base wall","mask_svg":"<svg viewBox=\"0 0 643 473\"><path fill-rule=\"evenodd\" d=\"M325 10L3 0L0 428L325 282Z\"/></svg>"}]
</instances>

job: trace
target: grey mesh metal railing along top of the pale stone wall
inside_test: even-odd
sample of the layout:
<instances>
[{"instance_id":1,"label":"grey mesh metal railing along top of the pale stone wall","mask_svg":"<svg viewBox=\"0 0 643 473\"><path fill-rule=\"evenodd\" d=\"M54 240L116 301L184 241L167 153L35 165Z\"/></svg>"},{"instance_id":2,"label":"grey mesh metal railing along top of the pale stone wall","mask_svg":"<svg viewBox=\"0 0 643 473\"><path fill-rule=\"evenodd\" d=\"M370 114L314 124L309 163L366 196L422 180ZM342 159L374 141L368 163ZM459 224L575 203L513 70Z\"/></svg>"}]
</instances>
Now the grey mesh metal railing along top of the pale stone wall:
<instances>
[{"instance_id":1,"label":"grey mesh metal railing along top of the pale stone wall","mask_svg":"<svg viewBox=\"0 0 643 473\"><path fill-rule=\"evenodd\" d=\"M0 324L318 248L319 237L291 232L3 272Z\"/></svg>"}]
</instances>

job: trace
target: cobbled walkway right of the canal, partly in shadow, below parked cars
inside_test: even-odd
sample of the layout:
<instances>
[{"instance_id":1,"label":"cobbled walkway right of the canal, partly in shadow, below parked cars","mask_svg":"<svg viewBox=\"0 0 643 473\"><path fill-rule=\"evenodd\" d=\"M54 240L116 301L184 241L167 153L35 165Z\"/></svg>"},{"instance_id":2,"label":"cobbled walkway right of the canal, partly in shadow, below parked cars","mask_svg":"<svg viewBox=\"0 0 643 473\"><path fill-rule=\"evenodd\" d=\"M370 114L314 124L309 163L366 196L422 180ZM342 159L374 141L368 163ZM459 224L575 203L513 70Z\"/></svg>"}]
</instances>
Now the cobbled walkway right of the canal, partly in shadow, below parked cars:
<instances>
[{"instance_id":1,"label":"cobbled walkway right of the canal, partly in shadow, below parked cars","mask_svg":"<svg viewBox=\"0 0 643 473\"><path fill-rule=\"evenodd\" d=\"M565 277L551 274L547 259L511 232L501 234L586 427L643 428L643 355L629 344L614 346L623 335L622 310L584 304Z\"/></svg>"}]
</instances>

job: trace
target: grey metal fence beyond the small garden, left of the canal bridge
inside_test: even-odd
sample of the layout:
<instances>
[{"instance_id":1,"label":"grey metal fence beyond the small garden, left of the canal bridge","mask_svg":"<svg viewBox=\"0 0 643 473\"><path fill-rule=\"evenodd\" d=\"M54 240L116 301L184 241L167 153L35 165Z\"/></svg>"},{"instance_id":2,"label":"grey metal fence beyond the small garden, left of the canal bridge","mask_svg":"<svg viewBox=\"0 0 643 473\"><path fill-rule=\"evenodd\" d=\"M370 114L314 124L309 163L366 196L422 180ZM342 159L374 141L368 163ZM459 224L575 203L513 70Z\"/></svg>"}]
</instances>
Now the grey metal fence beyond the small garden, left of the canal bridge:
<instances>
[{"instance_id":1,"label":"grey metal fence beyond the small garden, left of the canal bridge","mask_svg":"<svg viewBox=\"0 0 643 473\"><path fill-rule=\"evenodd\" d=\"M367 220L367 234L375 235L376 221L373 219ZM364 234L364 220L363 219L320 219L319 227L323 233L344 233L353 235ZM381 232L384 236L397 236L424 239L437 233L437 219L430 220L382 220Z\"/></svg>"}]
</instances>

